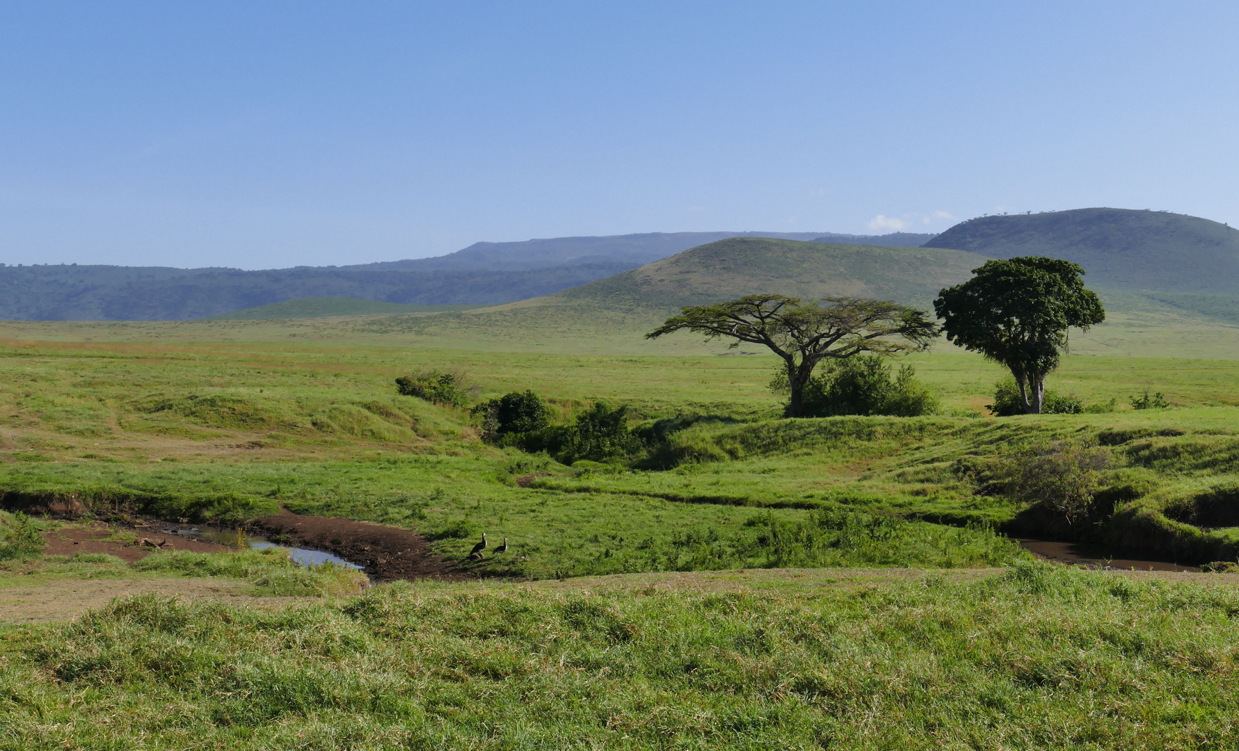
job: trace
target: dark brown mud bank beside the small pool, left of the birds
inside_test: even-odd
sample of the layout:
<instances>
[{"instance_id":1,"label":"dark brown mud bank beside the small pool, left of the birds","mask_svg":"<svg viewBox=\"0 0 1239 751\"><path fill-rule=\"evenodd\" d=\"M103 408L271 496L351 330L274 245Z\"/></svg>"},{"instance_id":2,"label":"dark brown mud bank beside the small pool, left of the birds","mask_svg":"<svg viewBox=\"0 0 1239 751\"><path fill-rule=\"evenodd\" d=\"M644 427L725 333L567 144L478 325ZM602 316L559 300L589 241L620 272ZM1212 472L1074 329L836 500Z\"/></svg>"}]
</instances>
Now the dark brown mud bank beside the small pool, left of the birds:
<instances>
[{"instance_id":1,"label":"dark brown mud bank beside the small pool, left of the birds","mask_svg":"<svg viewBox=\"0 0 1239 751\"><path fill-rule=\"evenodd\" d=\"M255 519L249 525L273 543L326 550L366 566L366 573L375 581L463 581L477 576L462 570L456 561L431 553L430 544L420 534L399 527L330 517L302 517L289 512Z\"/></svg>"}]
</instances>

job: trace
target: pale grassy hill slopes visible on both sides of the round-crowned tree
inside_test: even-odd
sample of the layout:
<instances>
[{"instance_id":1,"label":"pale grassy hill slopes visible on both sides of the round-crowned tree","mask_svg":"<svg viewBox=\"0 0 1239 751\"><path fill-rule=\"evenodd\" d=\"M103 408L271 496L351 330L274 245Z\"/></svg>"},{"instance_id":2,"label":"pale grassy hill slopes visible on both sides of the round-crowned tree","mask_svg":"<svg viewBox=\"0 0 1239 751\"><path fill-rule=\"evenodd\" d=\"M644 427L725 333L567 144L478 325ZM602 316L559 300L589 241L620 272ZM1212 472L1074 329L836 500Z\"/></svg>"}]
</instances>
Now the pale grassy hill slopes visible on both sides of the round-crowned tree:
<instances>
[{"instance_id":1,"label":"pale grassy hill slopes visible on both sides of the round-crowned tree","mask_svg":"<svg viewBox=\"0 0 1239 751\"><path fill-rule=\"evenodd\" d=\"M969 278L986 257L950 248L883 248L773 238L731 238L576 288L493 307L436 316L359 318L356 336L405 336L434 346L564 352L722 351L688 337L646 342L650 331L684 305L703 305L756 292L802 297L854 295L928 309L938 291ZM1158 352L1187 346L1213 352L1208 342L1235 341L1225 325L1229 297L1139 292L1101 288L1109 322L1073 338L1078 352ZM1189 299L1191 297L1191 299ZM1212 317L1184 304L1208 304ZM1220 301L1219 301L1220 300ZM1184 338L1187 337L1187 338ZM1193 338L1194 337L1194 338ZM1203 342L1197 342L1203 338Z\"/></svg>"}]
</instances>

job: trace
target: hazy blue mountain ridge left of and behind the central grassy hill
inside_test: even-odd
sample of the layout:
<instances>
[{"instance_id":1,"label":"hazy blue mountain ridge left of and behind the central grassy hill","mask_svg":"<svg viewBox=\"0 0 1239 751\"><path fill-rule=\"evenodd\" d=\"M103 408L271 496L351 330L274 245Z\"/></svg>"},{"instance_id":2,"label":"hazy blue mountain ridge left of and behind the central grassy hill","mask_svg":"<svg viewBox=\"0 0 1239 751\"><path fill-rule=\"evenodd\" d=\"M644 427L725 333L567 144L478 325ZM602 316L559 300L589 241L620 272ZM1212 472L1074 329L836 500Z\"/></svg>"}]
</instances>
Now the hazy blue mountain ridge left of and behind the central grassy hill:
<instances>
[{"instance_id":1,"label":"hazy blue mountain ridge left of and behind the central grassy hill","mask_svg":"<svg viewBox=\"0 0 1239 751\"><path fill-rule=\"evenodd\" d=\"M306 297L354 297L400 305L497 305L603 279L737 235L812 239L821 233L676 232L475 243L436 258L259 271L0 266L0 318L175 321Z\"/></svg>"}]
</instances>

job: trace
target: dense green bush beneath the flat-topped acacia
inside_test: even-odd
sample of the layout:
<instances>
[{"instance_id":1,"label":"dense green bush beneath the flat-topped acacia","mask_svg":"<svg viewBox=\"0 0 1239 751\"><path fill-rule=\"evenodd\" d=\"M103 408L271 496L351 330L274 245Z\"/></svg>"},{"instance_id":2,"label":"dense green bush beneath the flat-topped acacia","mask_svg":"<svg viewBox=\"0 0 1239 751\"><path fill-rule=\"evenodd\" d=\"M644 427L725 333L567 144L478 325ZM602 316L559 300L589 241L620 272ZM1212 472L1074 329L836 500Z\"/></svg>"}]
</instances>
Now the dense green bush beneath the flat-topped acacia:
<instances>
[{"instance_id":1,"label":"dense green bush beneath the flat-topped acacia","mask_svg":"<svg viewBox=\"0 0 1239 751\"><path fill-rule=\"evenodd\" d=\"M787 393L787 373L779 371L771 390ZM891 376L891 363L876 354L831 359L804 388L807 418L836 415L892 415L913 418L938 411L938 400L916 378L912 366Z\"/></svg>"}]
</instances>

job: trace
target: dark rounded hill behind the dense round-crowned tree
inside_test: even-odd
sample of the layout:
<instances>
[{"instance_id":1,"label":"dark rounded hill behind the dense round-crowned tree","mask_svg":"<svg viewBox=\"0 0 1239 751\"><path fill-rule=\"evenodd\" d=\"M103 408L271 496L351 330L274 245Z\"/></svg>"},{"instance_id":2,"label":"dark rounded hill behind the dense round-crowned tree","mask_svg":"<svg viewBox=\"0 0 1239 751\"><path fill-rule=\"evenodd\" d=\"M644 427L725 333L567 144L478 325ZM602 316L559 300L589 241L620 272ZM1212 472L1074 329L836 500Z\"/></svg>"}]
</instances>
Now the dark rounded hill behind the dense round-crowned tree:
<instances>
[{"instance_id":1,"label":"dark rounded hill behind the dense round-crowned tree","mask_svg":"<svg viewBox=\"0 0 1239 751\"><path fill-rule=\"evenodd\" d=\"M1064 258L1084 266L1090 286L1168 292L1193 310L1215 304L1198 295L1239 295L1239 229L1186 214L1078 208L980 217L926 247Z\"/></svg>"}]
</instances>

